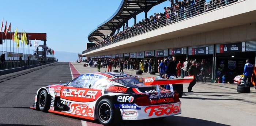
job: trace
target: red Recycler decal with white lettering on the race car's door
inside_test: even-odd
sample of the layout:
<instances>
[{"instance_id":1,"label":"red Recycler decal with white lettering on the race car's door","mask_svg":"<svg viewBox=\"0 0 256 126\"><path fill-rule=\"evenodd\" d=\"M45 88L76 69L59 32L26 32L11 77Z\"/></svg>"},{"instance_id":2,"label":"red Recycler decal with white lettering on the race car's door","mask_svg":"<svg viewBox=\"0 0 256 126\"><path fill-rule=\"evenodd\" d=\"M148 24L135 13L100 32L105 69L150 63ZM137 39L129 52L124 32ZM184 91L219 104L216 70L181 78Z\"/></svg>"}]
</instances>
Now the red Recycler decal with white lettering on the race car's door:
<instances>
[{"instance_id":1,"label":"red Recycler decal with white lettering on the race car's door","mask_svg":"<svg viewBox=\"0 0 256 126\"><path fill-rule=\"evenodd\" d=\"M69 89L70 88L70 89ZM67 100L74 100L77 102L95 101L101 96L99 90L87 90L86 88L64 88L60 97Z\"/></svg>"}]
</instances>

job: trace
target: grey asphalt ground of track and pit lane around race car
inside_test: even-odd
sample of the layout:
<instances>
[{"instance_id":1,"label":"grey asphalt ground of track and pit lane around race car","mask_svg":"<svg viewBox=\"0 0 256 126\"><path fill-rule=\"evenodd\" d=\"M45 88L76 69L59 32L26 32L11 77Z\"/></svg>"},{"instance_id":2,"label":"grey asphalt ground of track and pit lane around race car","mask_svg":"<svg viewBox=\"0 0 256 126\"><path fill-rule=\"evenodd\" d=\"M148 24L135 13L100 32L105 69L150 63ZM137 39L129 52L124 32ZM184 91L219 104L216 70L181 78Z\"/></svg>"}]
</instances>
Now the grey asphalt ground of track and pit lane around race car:
<instances>
[{"instance_id":1,"label":"grey asphalt ground of track and pit lane around race car","mask_svg":"<svg viewBox=\"0 0 256 126\"><path fill-rule=\"evenodd\" d=\"M72 62L80 74L97 72L97 68L84 68L83 63ZM106 68L101 68L105 72ZM112 69L113 70L113 69ZM125 73L135 75L135 70ZM141 77L151 77L143 73ZM98 121L73 118L30 109L38 88L71 79L68 62L56 62L37 68L0 76L0 125L47 126L101 126ZM256 118L256 90L238 93L235 84L196 83L194 93L186 92L182 102L182 114L163 120L147 119L123 121L120 126L253 126ZM82 120L82 122L81 122Z\"/></svg>"}]
</instances>

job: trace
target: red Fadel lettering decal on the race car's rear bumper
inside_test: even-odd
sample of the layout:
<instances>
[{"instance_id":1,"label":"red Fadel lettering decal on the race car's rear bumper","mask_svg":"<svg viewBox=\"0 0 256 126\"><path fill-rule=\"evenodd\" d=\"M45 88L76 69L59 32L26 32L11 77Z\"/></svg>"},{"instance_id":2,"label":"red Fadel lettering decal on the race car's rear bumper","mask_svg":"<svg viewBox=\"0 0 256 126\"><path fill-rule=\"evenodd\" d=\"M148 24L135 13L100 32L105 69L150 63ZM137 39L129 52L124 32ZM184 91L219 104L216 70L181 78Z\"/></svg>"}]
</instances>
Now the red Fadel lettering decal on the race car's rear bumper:
<instances>
[{"instance_id":1,"label":"red Fadel lettering decal on the race car's rear bumper","mask_svg":"<svg viewBox=\"0 0 256 126\"><path fill-rule=\"evenodd\" d=\"M170 115L172 113L180 112L181 103L178 105L167 104L167 105L159 105L159 106L148 106L145 108L144 112L148 113L148 117L152 115L161 116L163 114Z\"/></svg>"}]
</instances>

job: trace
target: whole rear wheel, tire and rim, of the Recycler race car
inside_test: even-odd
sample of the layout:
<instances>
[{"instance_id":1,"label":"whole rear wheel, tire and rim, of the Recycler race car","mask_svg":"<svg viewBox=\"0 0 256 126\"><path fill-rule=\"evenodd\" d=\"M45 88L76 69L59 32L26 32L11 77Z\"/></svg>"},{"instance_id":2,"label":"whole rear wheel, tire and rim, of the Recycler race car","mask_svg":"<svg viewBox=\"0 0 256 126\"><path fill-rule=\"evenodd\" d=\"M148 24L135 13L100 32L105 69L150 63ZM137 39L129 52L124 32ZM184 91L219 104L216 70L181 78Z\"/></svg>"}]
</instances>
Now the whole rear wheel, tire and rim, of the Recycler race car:
<instances>
[{"instance_id":1,"label":"whole rear wheel, tire and rim, of the Recycler race car","mask_svg":"<svg viewBox=\"0 0 256 126\"><path fill-rule=\"evenodd\" d=\"M111 126L114 123L118 123L121 119L120 113L114 107L113 103L109 99L102 99L97 105L97 117L99 122L104 126Z\"/></svg>"}]
</instances>

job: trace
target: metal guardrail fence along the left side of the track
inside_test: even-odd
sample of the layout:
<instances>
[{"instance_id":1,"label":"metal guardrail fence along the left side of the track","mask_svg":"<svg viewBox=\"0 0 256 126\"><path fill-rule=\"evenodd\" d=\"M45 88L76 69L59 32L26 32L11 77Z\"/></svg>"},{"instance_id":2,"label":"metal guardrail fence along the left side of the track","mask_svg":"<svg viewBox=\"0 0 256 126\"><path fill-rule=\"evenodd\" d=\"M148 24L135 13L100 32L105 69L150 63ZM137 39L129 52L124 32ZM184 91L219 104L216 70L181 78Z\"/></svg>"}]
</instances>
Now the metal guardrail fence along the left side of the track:
<instances>
[{"instance_id":1,"label":"metal guardrail fence along the left side of the track","mask_svg":"<svg viewBox=\"0 0 256 126\"><path fill-rule=\"evenodd\" d=\"M47 60L46 62L56 62L56 61L55 60ZM5 62L0 62L0 70L19 68L19 67L23 67L23 66L38 65L38 64L42 64L42 63L44 63L44 61L41 61L41 60L5 61Z\"/></svg>"}]
</instances>

